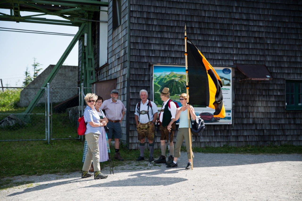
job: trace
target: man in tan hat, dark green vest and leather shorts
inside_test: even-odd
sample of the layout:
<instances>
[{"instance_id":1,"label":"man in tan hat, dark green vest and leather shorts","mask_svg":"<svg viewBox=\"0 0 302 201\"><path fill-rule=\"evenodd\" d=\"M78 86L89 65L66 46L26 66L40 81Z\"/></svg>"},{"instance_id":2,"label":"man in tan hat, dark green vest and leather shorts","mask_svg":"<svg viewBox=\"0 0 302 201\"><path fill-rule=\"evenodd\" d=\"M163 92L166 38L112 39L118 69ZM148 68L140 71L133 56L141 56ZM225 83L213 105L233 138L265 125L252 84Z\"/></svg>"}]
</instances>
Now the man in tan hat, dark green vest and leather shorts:
<instances>
[{"instance_id":1,"label":"man in tan hat, dark green vest and leather shorts","mask_svg":"<svg viewBox=\"0 0 302 201\"><path fill-rule=\"evenodd\" d=\"M170 164L173 162L174 155L174 143L173 137L175 132L175 114L176 114L176 105L170 99L169 88L165 87L160 93L160 98L163 101L162 108L159 113L159 123L160 123L160 147L162 155L159 156L158 160L155 160L155 163L165 163ZM166 161L165 152L166 152L166 143L165 141L169 139L169 129L173 129L170 135L170 147L169 147L169 158Z\"/></svg>"}]
</instances>

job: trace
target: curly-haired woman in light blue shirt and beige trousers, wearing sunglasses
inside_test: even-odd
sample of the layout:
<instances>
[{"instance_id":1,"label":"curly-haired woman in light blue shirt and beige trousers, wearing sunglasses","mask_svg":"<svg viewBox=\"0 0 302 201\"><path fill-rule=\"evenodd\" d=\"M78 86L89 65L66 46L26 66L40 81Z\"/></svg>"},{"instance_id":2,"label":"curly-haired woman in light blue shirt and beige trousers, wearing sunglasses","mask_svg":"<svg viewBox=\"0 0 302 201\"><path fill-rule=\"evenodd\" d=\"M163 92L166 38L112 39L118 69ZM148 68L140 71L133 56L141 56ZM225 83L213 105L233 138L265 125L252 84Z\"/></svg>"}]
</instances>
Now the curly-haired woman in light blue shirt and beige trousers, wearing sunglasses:
<instances>
[{"instance_id":1,"label":"curly-haired woman in light blue shirt and beige trousers, wearing sunglasses","mask_svg":"<svg viewBox=\"0 0 302 201\"><path fill-rule=\"evenodd\" d=\"M100 169L100 155L98 138L104 132L106 121L100 121L100 116L95 109L95 101L98 97L95 94L86 94L84 100L87 107L84 110L84 120L87 123L85 131L85 139L87 141L88 149L86 158L82 168L82 178L92 177L94 179L104 179L108 175L101 173ZM94 174L89 172L89 168L93 161Z\"/></svg>"}]
</instances>

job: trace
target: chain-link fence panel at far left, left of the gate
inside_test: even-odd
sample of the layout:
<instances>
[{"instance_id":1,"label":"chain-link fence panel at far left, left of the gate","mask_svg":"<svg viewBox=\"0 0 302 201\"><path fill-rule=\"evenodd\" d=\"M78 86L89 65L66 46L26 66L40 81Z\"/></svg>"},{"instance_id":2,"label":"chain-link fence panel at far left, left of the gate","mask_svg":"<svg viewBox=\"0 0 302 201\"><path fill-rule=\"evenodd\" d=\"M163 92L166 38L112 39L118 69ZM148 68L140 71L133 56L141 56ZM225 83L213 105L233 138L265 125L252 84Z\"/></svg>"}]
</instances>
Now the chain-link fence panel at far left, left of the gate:
<instances>
[{"instance_id":1,"label":"chain-link fence panel at far left, left of the gate","mask_svg":"<svg viewBox=\"0 0 302 201\"><path fill-rule=\"evenodd\" d=\"M42 96L30 112L31 100ZM0 89L0 141L46 140L46 88L3 87Z\"/></svg>"}]
</instances>

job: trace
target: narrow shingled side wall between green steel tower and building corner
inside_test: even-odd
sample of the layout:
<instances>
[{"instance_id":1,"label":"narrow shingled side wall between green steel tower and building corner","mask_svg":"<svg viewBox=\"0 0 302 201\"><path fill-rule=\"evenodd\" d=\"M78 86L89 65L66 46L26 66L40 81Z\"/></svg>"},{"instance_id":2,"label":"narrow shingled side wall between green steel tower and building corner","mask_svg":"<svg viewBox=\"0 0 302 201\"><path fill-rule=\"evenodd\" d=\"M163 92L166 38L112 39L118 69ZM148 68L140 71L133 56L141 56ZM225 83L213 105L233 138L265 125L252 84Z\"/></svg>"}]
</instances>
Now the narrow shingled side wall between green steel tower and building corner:
<instances>
[{"instance_id":1,"label":"narrow shingled side wall between green steel tower and building corner","mask_svg":"<svg viewBox=\"0 0 302 201\"><path fill-rule=\"evenodd\" d=\"M127 0L121 1L122 21L112 29L112 1L108 6L108 65L97 69L96 81L117 79L119 99L127 105ZM101 39L100 39L101 40ZM128 112L127 108L127 112ZM126 116L126 115L125 115ZM122 122L122 141L126 143L126 118Z\"/></svg>"}]
</instances>

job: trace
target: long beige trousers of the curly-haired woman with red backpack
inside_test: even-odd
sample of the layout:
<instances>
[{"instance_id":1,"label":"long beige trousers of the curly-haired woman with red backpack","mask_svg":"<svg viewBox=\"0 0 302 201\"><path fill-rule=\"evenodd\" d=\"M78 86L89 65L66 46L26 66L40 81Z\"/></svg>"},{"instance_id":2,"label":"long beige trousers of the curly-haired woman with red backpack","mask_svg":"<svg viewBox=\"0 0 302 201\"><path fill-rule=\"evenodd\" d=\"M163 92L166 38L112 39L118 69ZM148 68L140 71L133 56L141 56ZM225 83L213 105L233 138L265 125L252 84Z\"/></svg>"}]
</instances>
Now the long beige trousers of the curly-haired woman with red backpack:
<instances>
[{"instance_id":1,"label":"long beige trousers of the curly-haired woman with red backpack","mask_svg":"<svg viewBox=\"0 0 302 201\"><path fill-rule=\"evenodd\" d=\"M89 171L91 163L93 161L94 171L100 171L100 151L98 149L98 137L100 134L97 133L87 133L85 139L88 144L87 154L84 161L82 170Z\"/></svg>"}]
</instances>

